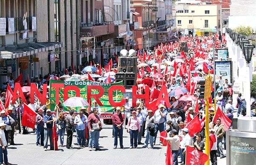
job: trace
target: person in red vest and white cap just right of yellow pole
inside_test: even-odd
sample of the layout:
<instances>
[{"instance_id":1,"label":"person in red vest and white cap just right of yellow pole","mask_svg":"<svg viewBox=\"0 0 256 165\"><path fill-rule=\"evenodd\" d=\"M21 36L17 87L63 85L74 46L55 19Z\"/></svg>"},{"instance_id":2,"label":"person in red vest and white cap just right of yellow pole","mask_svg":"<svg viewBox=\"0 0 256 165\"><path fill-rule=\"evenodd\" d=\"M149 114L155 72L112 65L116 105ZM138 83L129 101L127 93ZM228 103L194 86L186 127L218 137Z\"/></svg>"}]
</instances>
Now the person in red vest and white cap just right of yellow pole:
<instances>
[{"instance_id":1,"label":"person in red vest and white cap just right of yellow pole","mask_svg":"<svg viewBox=\"0 0 256 165\"><path fill-rule=\"evenodd\" d=\"M210 159L212 165L217 165L217 135L214 134L214 129L210 129L209 132Z\"/></svg>"}]
</instances>

